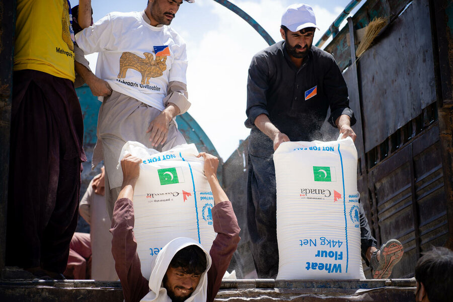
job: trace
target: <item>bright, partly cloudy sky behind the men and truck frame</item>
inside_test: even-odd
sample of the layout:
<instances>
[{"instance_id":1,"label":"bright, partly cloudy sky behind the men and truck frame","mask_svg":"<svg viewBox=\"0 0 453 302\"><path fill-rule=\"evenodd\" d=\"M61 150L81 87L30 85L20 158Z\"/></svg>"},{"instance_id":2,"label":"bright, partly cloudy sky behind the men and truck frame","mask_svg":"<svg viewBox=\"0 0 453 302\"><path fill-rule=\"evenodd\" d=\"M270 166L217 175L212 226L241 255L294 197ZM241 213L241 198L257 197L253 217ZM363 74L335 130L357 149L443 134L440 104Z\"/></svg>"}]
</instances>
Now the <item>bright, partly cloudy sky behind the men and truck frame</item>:
<instances>
[{"instance_id":1,"label":"bright, partly cloudy sky behind the men and truck frame","mask_svg":"<svg viewBox=\"0 0 453 302\"><path fill-rule=\"evenodd\" d=\"M296 0L230 0L255 19L275 40L280 36L281 15ZM314 44L350 0L306 0L313 7L317 25ZM357 6L352 14L365 2ZM78 1L70 1L71 6ZM142 11L146 0L92 0L96 22L110 12ZM299 2L300 3L300 2ZM343 22L342 26L346 24ZM198 122L218 154L226 161L247 138L247 71L255 53L266 41L242 18L213 0L184 2L171 23L186 41L189 67L189 114ZM327 45L326 43L325 45ZM95 70L97 54L87 56Z\"/></svg>"}]
</instances>

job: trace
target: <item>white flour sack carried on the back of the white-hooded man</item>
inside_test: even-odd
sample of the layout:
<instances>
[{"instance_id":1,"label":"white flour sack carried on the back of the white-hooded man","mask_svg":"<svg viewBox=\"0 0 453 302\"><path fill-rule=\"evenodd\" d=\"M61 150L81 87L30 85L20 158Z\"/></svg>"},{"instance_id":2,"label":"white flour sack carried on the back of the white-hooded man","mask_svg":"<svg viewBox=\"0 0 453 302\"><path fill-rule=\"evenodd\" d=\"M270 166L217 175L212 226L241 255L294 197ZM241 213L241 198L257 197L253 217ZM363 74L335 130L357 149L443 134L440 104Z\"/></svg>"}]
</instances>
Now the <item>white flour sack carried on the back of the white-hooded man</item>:
<instances>
[{"instance_id":1,"label":"white flour sack carried on the back of the white-hooded man","mask_svg":"<svg viewBox=\"0 0 453 302\"><path fill-rule=\"evenodd\" d=\"M154 259L172 239L189 237L207 251L216 234L212 226L212 192L204 176L204 159L194 144L158 153L128 141L121 151L141 158L134 190L135 226L141 273L149 278Z\"/></svg>"}]
</instances>

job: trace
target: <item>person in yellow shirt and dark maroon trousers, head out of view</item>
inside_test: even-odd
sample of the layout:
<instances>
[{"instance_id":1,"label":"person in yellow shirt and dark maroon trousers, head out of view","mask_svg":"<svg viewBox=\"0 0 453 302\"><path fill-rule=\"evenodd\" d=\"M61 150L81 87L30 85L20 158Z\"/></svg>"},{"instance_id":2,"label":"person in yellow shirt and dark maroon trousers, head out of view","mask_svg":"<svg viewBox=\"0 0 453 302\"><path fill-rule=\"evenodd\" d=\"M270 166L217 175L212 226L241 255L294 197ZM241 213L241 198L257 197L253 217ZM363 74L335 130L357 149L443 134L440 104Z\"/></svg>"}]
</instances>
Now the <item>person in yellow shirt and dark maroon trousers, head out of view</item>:
<instances>
[{"instance_id":1,"label":"person in yellow shirt and dark maroon trousers, head out of view","mask_svg":"<svg viewBox=\"0 0 453 302\"><path fill-rule=\"evenodd\" d=\"M67 0L17 1L6 261L44 279L63 278L86 161L70 23Z\"/></svg>"}]
</instances>

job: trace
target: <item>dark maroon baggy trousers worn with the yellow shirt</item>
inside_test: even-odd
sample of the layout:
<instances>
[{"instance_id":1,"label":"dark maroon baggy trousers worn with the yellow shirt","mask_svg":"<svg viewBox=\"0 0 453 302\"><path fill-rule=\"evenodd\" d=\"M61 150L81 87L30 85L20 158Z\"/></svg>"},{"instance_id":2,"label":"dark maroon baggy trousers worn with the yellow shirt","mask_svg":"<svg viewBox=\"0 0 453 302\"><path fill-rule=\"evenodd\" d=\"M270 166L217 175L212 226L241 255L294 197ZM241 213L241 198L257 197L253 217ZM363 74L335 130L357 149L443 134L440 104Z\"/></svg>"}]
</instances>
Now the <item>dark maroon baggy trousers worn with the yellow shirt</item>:
<instances>
[{"instance_id":1,"label":"dark maroon baggy trousers worn with the yellow shirt","mask_svg":"<svg viewBox=\"0 0 453 302\"><path fill-rule=\"evenodd\" d=\"M72 82L15 71L7 265L65 270L86 160L82 142L83 117Z\"/></svg>"}]
</instances>

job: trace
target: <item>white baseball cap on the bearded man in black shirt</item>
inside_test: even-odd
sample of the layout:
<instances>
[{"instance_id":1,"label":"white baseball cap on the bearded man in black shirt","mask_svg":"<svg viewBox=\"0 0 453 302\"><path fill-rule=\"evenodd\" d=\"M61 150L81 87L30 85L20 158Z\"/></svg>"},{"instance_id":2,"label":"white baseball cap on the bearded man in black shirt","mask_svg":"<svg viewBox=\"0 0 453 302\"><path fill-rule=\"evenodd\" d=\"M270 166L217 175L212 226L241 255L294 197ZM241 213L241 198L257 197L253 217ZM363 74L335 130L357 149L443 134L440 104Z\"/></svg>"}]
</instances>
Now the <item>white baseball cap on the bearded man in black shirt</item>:
<instances>
[{"instance_id":1,"label":"white baseball cap on the bearded man in black shirt","mask_svg":"<svg viewBox=\"0 0 453 302\"><path fill-rule=\"evenodd\" d=\"M286 8L283 16L281 16L281 25L286 26L292 32L298 32L307 27L318 28L312 7L299 3L292 4Z\"/></svg>"}]
</instances>

